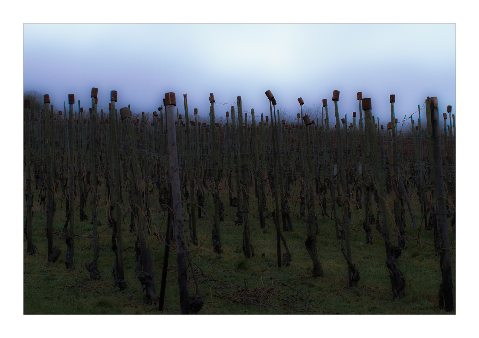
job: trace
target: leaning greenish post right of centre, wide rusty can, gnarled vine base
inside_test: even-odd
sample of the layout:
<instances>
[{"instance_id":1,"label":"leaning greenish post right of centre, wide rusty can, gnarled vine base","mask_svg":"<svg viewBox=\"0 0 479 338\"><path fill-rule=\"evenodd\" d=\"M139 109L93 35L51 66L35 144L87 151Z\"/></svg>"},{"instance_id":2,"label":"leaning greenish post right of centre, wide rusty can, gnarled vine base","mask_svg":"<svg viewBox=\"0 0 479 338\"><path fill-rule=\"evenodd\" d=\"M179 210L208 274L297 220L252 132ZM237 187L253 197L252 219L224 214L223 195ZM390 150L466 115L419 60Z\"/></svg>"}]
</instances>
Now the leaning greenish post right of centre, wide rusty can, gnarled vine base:
<instances>
[{"instance_id":1,"label":"leaning greenish post right of centre, wide rusty can, gnarled vine base","mask_svg":"<svg viewBox=\"0 0 479 338\"><path fill-rule=\"evenodd\" d=\"M375 135L374 120L371 114L371 99L362 99L363 110L365 112L365 129L366 129L366 142L371 145L371 165L373 179L376 184L378 204L380 210L380 223L381 223L381 237L386 245L386 266L389 271L389 278L391 280L393 297L404 297L404 287L406 286L406 280L401 271L396 267L396 260L401 254L402 249L391 244L389 240L389 213L386 206L386 194L384 191L383 177L381 174L381 165L379 162L379 156L377 153L377 140Z\"/></svg>"}]
</instances>

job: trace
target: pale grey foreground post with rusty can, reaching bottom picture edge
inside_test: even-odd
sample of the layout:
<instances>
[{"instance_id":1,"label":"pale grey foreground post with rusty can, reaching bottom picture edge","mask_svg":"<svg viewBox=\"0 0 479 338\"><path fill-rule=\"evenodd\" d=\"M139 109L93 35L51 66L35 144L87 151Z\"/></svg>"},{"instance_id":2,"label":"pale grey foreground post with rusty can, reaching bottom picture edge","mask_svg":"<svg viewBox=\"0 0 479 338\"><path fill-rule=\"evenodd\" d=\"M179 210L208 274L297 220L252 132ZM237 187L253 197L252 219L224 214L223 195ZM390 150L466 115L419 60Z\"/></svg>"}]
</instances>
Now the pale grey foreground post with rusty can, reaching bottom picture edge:
<instances>
[{"instance_id":1,"label":"pale grey foreground post with rusty can, reaching bottom picture edge","mask_svg":"<svg viewBox=\"0 0 479 338\"><path fill-rule=\"evenodd\" d=\"M176 241L176 263L178 264L178 284L180 287L180 306L182 315L189 312L188 276L186 274L185 245L184 245L184 219L181 205L180 168L178 166L178 150L176 146L175 93L165 94L166 119L168 124L168 154L171 173L171 201L173 204L173 225Z\"/></svg>"}]
</instances>

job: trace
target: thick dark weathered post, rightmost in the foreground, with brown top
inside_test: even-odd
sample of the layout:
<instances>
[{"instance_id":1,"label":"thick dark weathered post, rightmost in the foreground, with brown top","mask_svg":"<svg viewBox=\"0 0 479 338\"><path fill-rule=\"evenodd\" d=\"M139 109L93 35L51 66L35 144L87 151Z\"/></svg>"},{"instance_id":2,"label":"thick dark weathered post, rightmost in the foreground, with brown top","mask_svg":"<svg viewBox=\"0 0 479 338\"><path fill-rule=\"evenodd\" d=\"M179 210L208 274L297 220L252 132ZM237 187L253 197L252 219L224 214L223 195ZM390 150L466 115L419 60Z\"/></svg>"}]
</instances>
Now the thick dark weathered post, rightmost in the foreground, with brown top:
<instances>
[{"instance_id":1,"label":"thick dark weathered post, rightmost in the foreground, with brown top","mask_svg":"<svg viewBox=\"0 0 479 338\"><path fill-rule=\"evenodd\" d=\"M452 271L451 271L451 259L449 252L449 231L447 227L447 211L445 200L445 186L444 186L444 174L443 163L441 157L441 131L439 129L439 113L437 98L432 97L430 99L431 110L431 131L432 131L432 150L434 153L434 180L436 182L435 196L436 196L436 219L437 227L439 228L441 238L440 249L440 264L443 274L442 283L439 286L439 307L443 305L443 299L445 301L445 310L447 312L454 311L453 303L453 287L452 287Z\"/></svg>"}]
</instances>

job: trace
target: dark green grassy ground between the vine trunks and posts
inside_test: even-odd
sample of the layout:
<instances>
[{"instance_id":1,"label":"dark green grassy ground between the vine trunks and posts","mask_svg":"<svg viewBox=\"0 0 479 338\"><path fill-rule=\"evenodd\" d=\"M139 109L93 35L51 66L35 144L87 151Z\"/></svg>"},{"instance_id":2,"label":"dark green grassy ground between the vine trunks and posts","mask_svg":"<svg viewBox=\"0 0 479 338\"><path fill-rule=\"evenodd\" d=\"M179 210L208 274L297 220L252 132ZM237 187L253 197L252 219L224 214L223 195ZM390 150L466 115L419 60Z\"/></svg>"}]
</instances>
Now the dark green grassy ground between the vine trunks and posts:
<instances>
[{"instance_id":1,"label":"dark green grassy ground between the vine trunks and posts","mask_svg":"<svg viewBox=\"0 0 479 338\"><path fill-rule=\"evenodd\" d=\"M48 263L46 255L45 216L38 206L38 192L34 191L33 240L39 250L37 255L23 257L23 313L24 314L158 314L158 306L146 305L140 282L134 277L136 255L133 250L136 236L124 225L124 265L128 287L119 291L114 287L114 252L111 251L112 229L106 226L105 209L99 211L102 225L99 227L101 280L91 281L83 265L91 262L92 225L90 221L80 222L75 215L75 268L65 268L66 244L63 237L65 212L60 210L54 217L54 245L62 254L57 262ZM57 192L60 198L60 189ZM415 194L413 195L415 196ZM157 196L151 200L158 200ZM125 199L127 201L127 199ZM209 201L208 201L209 202ZM233 208L225 202L225 220L221 222L221 244L223 254L213 252L210 226L212 221L198 221L198 238L203 245L191 246L195 272L198 277L200 294L204 305L200 314L288 314L288 313L342 313L342 314L444 314L437 304L441 282L439 256L433 248L432 231L422 226L419 242L418 229L413 229L408 216L406 233L407 249L403 250L397 267L406 278L406 296L392 298L391 283L386 267L384 241L373 229L372 245L365 244L365 234L360 225L359 211L355 211L355 225L350 231L353 262L359 268L361 280L357 288L347 287L347 265L340 251L340 242L335 240L334 222L318 218L319 259L324 277L313 278L312 262L305 248L305 220L293 220L293 230L284 232L285 240L292 255L291 265L277 267L276 231L270 210L266 212L266 229L260 229L256 218L256 203L250 199L251 243L254 258L244 257L242 226L234 224ZM156 202L158 203L158 202ZM154 205L152 210L159 210ZM413 204L414 207L415 204ZM65 204L63 203L63 206ZM126 206L122 206L124 213ZM25 206L24 206L25 210ZM87 203L87 215L91 215ZM78 211L77 211L78 212ZM208 209L209 215L214 211ZM364 214L364 211L362 211ZM419 210L414 211L416 223L420 224ZM162 212L153 211L155 226L160 232L166 230L166 217ZM409 215L407 213L407 215ZM25 215L23 215L25 218ZM129 213L126 217L129 223ZM164 220L164 221L163 221ZM448 219L449 221L449 219ZM186 222L186 225L188 222ZM188 231L187 231L188 232ZM391 242L393 239L391 238ZM397 236L394 238L397 244ZM24 238L24 250L26 240ZM454 300L456 301L456 235L451 232L450 245ZM157 294L160 294L160 278L163 263L164 244L156 236L150 236L149 246L155 267ZM284 251L284 247L282 247ZM264 256L262 255L264 254ZM164 314L179 314L179 290L177 282L174 247L170 251L168 283L166 286ZM189 271L189 291L194 295L194 282ZM455 312L453 312L455 313Z\"/></svg>"}]
</instances>

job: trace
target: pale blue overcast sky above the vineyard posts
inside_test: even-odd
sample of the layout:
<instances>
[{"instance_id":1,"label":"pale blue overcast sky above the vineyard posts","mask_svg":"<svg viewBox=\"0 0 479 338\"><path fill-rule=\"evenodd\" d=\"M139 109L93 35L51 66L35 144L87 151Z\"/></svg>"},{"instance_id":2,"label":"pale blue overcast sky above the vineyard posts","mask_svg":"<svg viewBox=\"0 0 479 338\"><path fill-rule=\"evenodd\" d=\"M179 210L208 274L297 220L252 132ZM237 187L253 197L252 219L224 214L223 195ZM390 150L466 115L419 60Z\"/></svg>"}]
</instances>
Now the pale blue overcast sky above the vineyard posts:
<instances>
[{"instance_id":1,"label":"pale blue overcast sky above the vineyard posts","mask_svg":"<svg viewBox=\"0 0 479 338\"><path fill-rule=\"evenodd\" d=\"M358 110L356 93L371 98L373 114L390 119L417 111L437 96L439 112L456 106L455 24L24 24L23 89L49 94L63 109L68 94L91 106L152 112L175 92L183 110L209 114L209 93L223 117L238 95L243 111L269 115L264 92L296 114L340 91L340 114ZM219 105L219 103L228 103ZM359 114L358 114L359 116ZM417 119L417 113L414 120Z\"/></svg>"}]
</instances>

